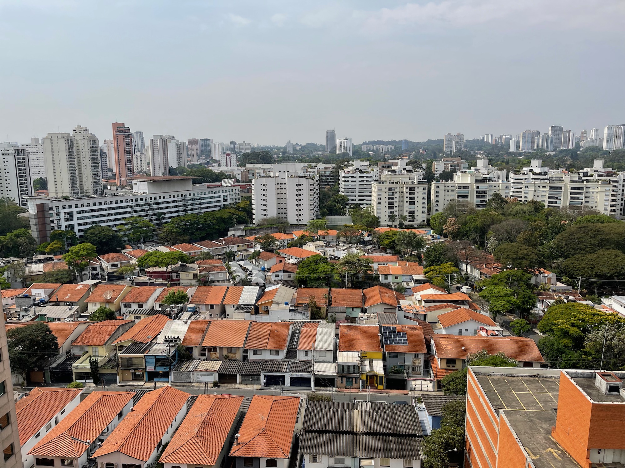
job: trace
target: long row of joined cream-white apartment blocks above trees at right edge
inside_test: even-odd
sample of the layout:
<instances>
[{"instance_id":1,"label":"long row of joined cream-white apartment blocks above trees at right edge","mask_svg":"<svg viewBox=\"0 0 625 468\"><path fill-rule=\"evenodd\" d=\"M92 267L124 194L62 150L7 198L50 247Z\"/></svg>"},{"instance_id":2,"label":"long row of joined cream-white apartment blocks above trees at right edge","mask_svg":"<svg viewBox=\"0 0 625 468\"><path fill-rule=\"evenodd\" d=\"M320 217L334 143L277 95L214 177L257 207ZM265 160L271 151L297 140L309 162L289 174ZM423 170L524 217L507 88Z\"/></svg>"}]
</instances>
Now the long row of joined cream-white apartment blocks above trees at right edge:
<instances>
[{"instance_id":1,"label":"long row of joined cream-white apartment blocks above trees at right edge","mask_svg":"<svg viewBox=\"0 0 625 468\"><path fill-rule=\"evenodd\" d=\"M476 208L486 208L487 201L499 193L519 202L539 200L545 207L584 207L621 218L625 198L625 172L603 167L596 159L592 167L569 173L564 169L542 167L532 159L529 167L506 178L506 171L496 170L487 160L478 166L454 174L453 182L432 182L430 213L442 212L451 200L466 200Z\"/></svg>"}]
</instances>

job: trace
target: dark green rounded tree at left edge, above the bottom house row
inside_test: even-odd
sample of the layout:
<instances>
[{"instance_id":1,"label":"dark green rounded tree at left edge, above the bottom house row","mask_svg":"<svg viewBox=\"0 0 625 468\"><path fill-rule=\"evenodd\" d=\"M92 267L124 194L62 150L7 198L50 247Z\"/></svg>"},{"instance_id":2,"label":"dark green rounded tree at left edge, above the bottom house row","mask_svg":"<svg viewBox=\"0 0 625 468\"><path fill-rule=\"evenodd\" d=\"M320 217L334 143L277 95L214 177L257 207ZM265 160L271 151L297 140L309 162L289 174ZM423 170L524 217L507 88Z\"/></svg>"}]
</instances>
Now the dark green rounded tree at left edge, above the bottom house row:
<instances>
[{"instance_id":1,"label":"dark green rounded tree at left edge, above the bottom house row","mask_svg":"<svg viewBox=\"0 0 625 468\"><path fill-rule=\"evenodd\" d=\"M27 382L28 372L59 354L59 343L45 322L12 328L6 333L11 370Z\"/></svg>"}]
</instances>

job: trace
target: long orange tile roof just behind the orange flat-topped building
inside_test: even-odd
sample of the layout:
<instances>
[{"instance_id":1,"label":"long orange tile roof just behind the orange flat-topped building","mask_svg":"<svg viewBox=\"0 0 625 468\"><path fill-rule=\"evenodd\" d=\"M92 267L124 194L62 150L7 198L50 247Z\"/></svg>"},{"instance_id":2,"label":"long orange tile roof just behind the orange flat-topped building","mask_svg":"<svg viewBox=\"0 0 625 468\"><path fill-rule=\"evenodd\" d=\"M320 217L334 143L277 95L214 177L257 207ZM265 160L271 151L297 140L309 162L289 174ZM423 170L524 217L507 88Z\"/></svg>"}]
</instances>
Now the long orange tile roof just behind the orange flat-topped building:
<instances>
[{"instance_id":1,"label":"long orange tile roof just behind the orange flat-topped building","mask_svg":"<svg viewBox=\"0 0 625 468\"><path fill-rule=\"evenodd\" d=\"M467 354L486 349L488 354L501 351L517 361L542 363L540 351L533 339L521 336L456 336L435 334L436 356L439 358L466 359ZM464 349L463 349L464 348Z\"/></svg>"}]
</instances>

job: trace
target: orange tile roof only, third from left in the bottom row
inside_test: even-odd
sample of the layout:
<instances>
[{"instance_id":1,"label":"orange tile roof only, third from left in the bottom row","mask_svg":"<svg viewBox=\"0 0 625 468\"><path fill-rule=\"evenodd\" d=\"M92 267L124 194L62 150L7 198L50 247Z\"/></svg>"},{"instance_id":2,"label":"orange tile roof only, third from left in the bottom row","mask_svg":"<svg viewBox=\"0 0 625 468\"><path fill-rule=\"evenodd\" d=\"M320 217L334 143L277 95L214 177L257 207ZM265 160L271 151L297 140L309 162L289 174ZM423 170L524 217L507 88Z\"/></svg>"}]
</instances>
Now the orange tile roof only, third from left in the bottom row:
<instances>
[{"instance_id":1,"label":"orange tile roof only, third from left in the bottom row","mask_svg":"<svg viewBox=\"0 0 625 468\"><path fill-rule=\"evenodd\" d=\"M144 394L133 411L119 422L93 454L93 458L121 452L134 459L148 461L188 398L187 392L169 386Z\"/></svg>"}]
</instances>

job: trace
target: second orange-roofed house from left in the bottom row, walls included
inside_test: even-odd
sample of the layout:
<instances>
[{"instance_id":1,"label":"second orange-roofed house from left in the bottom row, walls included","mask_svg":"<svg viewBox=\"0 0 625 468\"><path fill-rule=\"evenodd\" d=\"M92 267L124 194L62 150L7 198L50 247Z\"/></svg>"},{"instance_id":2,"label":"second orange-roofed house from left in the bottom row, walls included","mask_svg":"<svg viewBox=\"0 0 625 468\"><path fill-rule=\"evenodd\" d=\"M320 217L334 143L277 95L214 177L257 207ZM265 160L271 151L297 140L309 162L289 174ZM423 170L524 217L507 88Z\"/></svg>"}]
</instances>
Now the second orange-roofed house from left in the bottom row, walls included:
<instances>
[{"instance_id":1,"label":"second orange-roofed house from left in the bottom row, walls included","mask_svg":"<svg viewBox=\"0 0 625 468\"><path fill-rule=\"evenodd\" d=\"M119 421L133 407L134 392L93 391L28 452L35 467L88 465Z\"/></svg>"}]
</instances>

